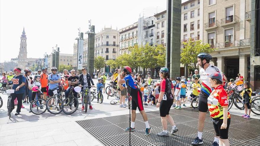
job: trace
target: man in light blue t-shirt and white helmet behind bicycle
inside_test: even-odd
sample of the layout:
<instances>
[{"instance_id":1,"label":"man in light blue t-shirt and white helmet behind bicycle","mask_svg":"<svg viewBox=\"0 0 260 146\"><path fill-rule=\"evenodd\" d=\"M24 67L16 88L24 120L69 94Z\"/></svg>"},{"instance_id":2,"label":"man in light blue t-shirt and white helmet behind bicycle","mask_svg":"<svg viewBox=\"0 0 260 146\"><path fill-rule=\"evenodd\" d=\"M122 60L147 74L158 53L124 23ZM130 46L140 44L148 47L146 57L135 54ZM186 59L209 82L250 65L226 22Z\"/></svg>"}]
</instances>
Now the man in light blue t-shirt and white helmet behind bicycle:
<instances>
[{"instance_id":1,"label":"man in light blue t-shirt and white helmet behind bicycle","mask_svg":"<svg viewBox=\"0 0 260 146\"><path fill-rule=\"evenodd\" d=\"M54 88L56 88L59 85L59 83L61 82L61 76L58 73L56 73L57 68L55 66L51 68L51 72L52 73L48 76L48 81L49 81L48 94L49 94L49 97L53 96L52 90Z\"/></svg>"}]
</instances>

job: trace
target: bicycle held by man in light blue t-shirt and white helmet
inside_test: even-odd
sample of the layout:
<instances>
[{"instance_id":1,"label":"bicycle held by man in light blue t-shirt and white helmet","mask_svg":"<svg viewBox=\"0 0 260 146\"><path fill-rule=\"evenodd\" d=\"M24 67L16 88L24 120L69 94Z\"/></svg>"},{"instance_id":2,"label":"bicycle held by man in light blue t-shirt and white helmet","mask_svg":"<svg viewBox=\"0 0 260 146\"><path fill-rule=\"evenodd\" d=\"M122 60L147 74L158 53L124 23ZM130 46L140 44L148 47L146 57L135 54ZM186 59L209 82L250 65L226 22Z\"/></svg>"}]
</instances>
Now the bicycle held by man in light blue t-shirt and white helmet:
<instances>
[{"instance_id":1,"label":"bicycle held by man in light blue t-shirt and white helmet","mask_svg":"<svg viewBox=\"0 0 260 146\"><path fill-rule=\"evenodd\" d=\"M46 108L51 114L59 114L62 111L62 99L58 93L58 87L59 86L56 86L51 90L53 92L53 96L46 101Z\"/></svg>"}]
</instances>

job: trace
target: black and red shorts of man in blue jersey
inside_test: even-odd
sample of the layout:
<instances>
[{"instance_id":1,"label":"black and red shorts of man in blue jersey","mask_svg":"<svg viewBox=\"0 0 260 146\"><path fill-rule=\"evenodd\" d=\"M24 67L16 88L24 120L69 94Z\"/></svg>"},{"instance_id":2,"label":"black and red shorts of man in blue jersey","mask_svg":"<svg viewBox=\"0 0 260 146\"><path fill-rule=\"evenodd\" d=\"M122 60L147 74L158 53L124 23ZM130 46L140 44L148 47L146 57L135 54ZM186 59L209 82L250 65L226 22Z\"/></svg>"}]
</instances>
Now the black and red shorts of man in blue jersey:
<instances>
[{"instance_id":1,"label":"black and red shorts of man in blue jersey","mask_svg":"<svg viewBox=\"0 0 260 146\"><path fill-rule=\"evenodd\" d=\"M139 109L139 111L144 110L144 106L143 106L143 100L142 100L142 93L140 92L140 90L137 89L133 89L131 88L131 93L130 93L131 97L132 97L132 110L136 110L137 107Z\"/></svg>"}]
</instances>

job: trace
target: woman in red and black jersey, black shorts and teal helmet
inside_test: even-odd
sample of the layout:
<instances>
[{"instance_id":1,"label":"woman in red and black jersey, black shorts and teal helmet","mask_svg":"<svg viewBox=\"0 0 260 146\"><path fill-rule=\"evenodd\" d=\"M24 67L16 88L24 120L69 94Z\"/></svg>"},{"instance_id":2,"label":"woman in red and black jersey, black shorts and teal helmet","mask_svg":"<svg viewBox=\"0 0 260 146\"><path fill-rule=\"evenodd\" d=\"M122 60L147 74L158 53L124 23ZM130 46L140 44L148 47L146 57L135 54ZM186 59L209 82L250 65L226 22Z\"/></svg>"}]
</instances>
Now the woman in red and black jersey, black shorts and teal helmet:
<instances>
[{"instance_id":1,"label":"woman in red and black jersey, black shorts and teal helmet","mask_svg":"<svg viewBox=\"0 0 260 146\"><path fill-rule=\"evenodd\" d=\"M160 82L160 95L156 107L160 108L160 116L163 125L163 132L157 133L158 136L169 136L167 130L167 120L172 125L170 134L173 134L178 131L178 128L176 127L173 121L173 118L169 115L170 108L173 104L174 88L172 82L170 81L170 79L168 79L168 75L169 75L168 68L163 67L160 69L159 76L160 78L162 78L162 80Z\"/></svg>"}]
</instances>

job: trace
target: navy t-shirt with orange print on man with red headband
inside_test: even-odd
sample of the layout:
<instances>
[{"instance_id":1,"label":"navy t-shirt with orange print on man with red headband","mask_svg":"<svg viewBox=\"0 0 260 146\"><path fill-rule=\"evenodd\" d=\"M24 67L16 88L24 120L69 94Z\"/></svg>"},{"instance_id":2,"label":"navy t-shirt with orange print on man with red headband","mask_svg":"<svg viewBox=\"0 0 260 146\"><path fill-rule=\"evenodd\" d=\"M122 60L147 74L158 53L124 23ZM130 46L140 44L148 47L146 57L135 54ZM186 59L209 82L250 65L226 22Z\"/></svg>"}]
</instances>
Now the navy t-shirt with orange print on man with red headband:
<instances>
[{"instance_id":1,"label":"navy t-shirt with orange print on man with red headband","mask_svg":"<svg viewBox=\"0 0 260 146\"><path fill-rule=\"evenodd\" d=\"M13 82L13 88L12 89L16 89L22 83L26 83L26 78L25 78L25 76L20 74L19 76L14 76L13 79L12 79L12 82ZM15 94L25 93L25 86L22 86L21 88L19 88L18 91L14 91L14 93Z\"/></svg>"}]
</instances>

